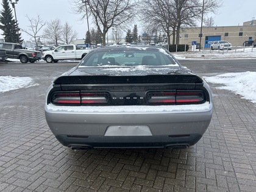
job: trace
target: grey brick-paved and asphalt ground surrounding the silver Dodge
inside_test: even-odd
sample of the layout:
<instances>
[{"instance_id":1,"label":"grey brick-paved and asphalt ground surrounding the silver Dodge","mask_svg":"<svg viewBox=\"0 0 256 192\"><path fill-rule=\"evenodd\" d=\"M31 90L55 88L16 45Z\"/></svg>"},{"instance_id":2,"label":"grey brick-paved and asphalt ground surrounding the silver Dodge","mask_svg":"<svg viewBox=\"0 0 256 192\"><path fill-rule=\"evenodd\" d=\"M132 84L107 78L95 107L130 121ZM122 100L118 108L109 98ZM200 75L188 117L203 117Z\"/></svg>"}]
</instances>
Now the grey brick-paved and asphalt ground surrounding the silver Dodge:
<instances>
[{"instance_id":1,"label":"grey brick-paved and asphalt ground surrounding the silver Dodge","mask_svg":"<svg viewBox=\"0 0 256 192\"><path fill-rule=\"evenodd\" d=\"M38 84L0 93L0 191L256 191L256 105L215 84L212 122L188 149L63 147L44 119L44 91L75 65L0 65L0 76L28 76ZM223 65L188 67L209 76ZM227 65L256 71L255 62Z\"/></svg>"}]
</instances>

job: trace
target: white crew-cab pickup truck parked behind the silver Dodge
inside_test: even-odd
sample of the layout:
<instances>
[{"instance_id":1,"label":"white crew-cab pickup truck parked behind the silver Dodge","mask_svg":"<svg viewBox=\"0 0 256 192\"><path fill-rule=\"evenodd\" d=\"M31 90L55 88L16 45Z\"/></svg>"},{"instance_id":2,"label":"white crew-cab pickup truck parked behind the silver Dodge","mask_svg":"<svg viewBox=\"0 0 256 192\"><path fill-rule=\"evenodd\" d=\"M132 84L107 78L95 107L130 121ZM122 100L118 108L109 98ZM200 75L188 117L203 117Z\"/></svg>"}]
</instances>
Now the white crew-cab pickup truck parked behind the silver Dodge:
<instances>
[{"instance_id":1,"label":"white crew-cab pickup truck parked behind the silver Dodge","mask_svg":"<svg viewBox=\"0 0 256 192\"><path fill-rule=\"evenodd\" d=\"M80 49L76 44L63 44L51 51L43 51L43 60L57 63L59 60L82 59L90 49Z\"/></svg>"}]
</instances>

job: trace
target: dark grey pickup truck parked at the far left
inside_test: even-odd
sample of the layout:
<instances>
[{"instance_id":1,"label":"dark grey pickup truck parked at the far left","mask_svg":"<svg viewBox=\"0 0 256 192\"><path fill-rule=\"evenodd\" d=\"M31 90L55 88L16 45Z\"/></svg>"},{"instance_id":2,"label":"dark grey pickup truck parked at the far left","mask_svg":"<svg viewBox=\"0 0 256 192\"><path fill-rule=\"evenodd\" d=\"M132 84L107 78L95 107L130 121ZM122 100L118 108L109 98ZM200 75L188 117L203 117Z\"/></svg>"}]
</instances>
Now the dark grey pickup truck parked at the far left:
<instances>
[{"instance_id":1,"label":"dark grey pickup truck parked at the far left","mask_svg":"<svg viewBox=\"0 0 256 192\"><path fill-rule=\"evenodd\" d=\"M18 43L0 43L0 49L4 49L7 58L20 59L21 63L34 63L41 59L40 51L32 51L23 49L23 46Z\"/></svg>"}]
</instances>

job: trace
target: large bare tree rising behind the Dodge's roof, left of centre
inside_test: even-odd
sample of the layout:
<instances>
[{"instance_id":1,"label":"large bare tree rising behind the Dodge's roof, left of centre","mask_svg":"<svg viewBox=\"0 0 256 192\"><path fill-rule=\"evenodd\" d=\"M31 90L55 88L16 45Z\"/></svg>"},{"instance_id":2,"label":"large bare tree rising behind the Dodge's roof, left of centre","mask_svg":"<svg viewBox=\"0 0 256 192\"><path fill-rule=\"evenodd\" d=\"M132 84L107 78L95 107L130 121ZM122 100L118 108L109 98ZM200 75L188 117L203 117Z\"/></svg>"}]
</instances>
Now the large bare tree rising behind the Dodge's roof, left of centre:
<instances>
[{"instance_id":1,"label":"large bare tree rising behind the Dodge's roof, left of centre","mask_svg":"<svg viewBox=\"0 0 256 192\"><path fill-rule=\"evenodd\" d=\"M105 46L105 39L108 29L112 27L122 26L127 21L135 18L137 2L133 0L87 0L86 3L80 0L73 0L75 6L75 13L84 13L85 6L88 6L88 12L93 18L94 23L101 32L103 46Z\"/></svg>"}]
</instances>

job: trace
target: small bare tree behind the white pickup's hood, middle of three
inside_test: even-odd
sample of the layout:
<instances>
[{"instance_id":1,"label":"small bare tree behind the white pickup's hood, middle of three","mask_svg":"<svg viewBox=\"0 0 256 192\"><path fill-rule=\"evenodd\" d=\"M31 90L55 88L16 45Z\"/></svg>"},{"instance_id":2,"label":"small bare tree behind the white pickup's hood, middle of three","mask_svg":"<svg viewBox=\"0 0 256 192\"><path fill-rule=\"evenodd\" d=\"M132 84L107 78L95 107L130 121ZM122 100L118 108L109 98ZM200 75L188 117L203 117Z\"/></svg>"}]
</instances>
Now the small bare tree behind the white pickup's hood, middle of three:
<instances>
[{"instance_id":1,"label":"small bare tree behind the white pickup's hood, middle of three","mask_svg":"<svg viewBox=\"0 0 256 192\"><path fill-rule=\"evenodd\" d=\"M58 44L58 41L62 40L62 29L61 21L59 19L55 19L47 23L46 29L44 29L44 36L45 38L48 38L48 40Z\"/></svg>"}]
</instances>

